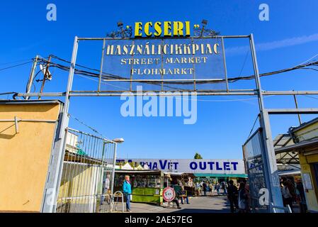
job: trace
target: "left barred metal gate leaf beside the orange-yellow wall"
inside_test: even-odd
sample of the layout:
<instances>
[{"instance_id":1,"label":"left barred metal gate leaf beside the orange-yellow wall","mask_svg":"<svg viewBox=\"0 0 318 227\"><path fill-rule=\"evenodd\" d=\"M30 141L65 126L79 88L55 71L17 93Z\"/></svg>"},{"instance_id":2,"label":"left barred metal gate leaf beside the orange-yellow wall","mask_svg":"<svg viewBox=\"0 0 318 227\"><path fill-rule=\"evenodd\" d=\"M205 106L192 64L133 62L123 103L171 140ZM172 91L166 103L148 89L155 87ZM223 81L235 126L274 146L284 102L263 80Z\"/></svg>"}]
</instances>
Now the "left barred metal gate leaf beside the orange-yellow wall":
<instances>
[{"instance_id":1,"label":"left barred metal gate leaf beside the orange-yellow wall","mask_svg":"<svg viewBox=\"0 0 318 227\"><path fill-rule=\"evenodd\" d=\"M111 211L116 143L68 128L57 213Z\"/></svg>"}]
</instances>

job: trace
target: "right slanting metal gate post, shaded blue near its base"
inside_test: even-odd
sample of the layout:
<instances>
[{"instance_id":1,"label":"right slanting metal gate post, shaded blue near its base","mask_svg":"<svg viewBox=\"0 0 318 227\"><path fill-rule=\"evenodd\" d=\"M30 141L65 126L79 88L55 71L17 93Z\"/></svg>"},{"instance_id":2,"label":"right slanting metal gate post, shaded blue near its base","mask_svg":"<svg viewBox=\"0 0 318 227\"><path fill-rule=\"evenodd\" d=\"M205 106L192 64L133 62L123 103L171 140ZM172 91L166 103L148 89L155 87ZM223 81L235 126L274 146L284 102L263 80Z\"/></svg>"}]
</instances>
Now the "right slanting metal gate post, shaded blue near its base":
<instances>
[{"instance_id":1,"label":"right slanting metal gate post, shaded blue near its base","mask_svg":"<svg viewBox=\"0 0 318 227\"><path fill-rule=\"evenodd\" d=\"M266 187L269 192L269 201L268 206L270 212L273 212L274 206L283 206L283 199L280 192L280 184L279 184L279 176L278 176L278 168L276 164L276 155L273 146L273 138L271 135L271 123L268 116L268 112L265 109L264 101L263 101L263 92L261 89L261 79L259 77L259 67L257 64L256 58L256 50L254 44L254 36L250 35L250 46L251 46L251 54L254 65L254 73L256 80L256 88L258 89L258 98L259 98L259 110L260 110L260 124L261 128L263 128L263 164L264 164L264 177L266 180Z\"/></svg>"}]
</instances>

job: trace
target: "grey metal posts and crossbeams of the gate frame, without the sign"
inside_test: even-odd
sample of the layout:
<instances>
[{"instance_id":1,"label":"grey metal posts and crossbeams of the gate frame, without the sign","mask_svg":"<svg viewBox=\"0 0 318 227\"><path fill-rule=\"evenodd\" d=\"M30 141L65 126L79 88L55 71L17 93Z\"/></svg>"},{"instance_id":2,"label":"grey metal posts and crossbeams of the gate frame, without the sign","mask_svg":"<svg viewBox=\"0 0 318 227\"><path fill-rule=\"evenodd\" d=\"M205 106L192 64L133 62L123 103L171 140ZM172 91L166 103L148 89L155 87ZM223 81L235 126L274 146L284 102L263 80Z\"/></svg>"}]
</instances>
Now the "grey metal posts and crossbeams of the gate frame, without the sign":
<instances>
[{"instance_id":1,"label":"grey metal posts and crossbeams of the gate frame, without the sign","mask_svg":"<svg viewBox=\"0 0 318 227\"><path fill-rule=\"evenodd\" d=\"M203 37L208 38L208 37ZM224 95L244 95L244 96L257 96L259 101L259 116L260 116L260 125L263 135L263 145L264 145L264 165L266 166L266 177L269 179L268 184L268 190L270 193L270 203L273 204L270 206L283 206L283 200L281 197L279 182L278 182L278 169L276 165L276 155L273 147L273 139L271 135L271 124L269 120L270 114L318 114L318 109L266 109L263 101L263 96L266 95L302 95L302 94L318 94L318 91L268 91L265 92L261 89L261 80L259 75L259 67L257 63L256 58L256 50L255 50L255 44L254 44L254 36L253 34L250 35L217 35L212 36L209 38L221 38L227 39L227 38L248 38L250 49L251 49L251 57L253 61L253 67L254 67L254 76L255 76L255 83L256 83L256 89L236 89L236 90L228 90L226 92L216 92L216 91L207 91L207 92L196 92L198 96L205 96L205 95L218 95L218 96L224 96ZM65 137L65 130L67 129L69 125L69 117L67 116L67 113L69 111L69 104L70 104L70 98L72 96L120 96L119 93L114 92L102 92L99 89L96 91L72 91L72 84L73 84L73 78L74 78L74 70L76 65L76 56L77 56L77 50L79 47L79 41L81 40L108 40L110 38L78 38L77 36L74 38L74 48L72 53L72 61L70 65L69 70L69 79L67 82L67 90L66 92L52 92L52 93L19 93L16 96L20 97L31 97L31 96L65 96L65 104L64 104L64 110L62 113L62 123L59 128L59 133L57 134L57 141L55 143L55 148L52 152L52 159L50 164L50 170L49 176L47 177L47 184L45 187L45 197L43 201L43 207L42 212L54 212L56 208L56 204L52 202L56 201L57 192L58 192L58 186L59 186L59 180L60 180L60 172L62 167L62 157L64 157L64 148L65 144L64 137ZM116 39L116 38L111 38ZM125 38L117 38L125 39ZM33 78L31 78L33 79ZM101 81L101 75L100 75L100 81ZM98 84L99 86L99 84ZM157 94L161 96L165 96L166 94L162 94L161 92L157 92ZM156 95L157 95L156 94ZM141 93L133 93L132 95L136 96L142 96L147 95L141 94ZM149 95L149 94L148 94ZM176 94L174 94L176 95ZM55 198L55 199L54 199ZM273 210L273 209L271 209Z\"/></svg>"}]
</instances>

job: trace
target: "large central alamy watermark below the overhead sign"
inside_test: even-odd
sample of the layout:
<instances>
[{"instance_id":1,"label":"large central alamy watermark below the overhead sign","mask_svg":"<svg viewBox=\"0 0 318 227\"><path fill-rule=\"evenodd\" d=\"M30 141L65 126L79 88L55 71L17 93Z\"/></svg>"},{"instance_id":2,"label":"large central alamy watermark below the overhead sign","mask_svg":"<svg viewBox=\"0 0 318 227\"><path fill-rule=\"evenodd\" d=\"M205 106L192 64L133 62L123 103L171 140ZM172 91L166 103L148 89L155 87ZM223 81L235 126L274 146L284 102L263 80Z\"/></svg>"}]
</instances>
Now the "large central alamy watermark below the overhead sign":
<instances>
[{"instance_id":1,"label":"large central alamy watermark below the overhead sign","mask_svg":"<svg viewBox=\"0 0 318 227\"><path fill-rule=\"evenodd\" d=\"M123 92L120 100L125 101L120 114L124 117L183 117L183 123L193 125L197 121L197 95L195 92Z\"/></svg>"}]
</instances>

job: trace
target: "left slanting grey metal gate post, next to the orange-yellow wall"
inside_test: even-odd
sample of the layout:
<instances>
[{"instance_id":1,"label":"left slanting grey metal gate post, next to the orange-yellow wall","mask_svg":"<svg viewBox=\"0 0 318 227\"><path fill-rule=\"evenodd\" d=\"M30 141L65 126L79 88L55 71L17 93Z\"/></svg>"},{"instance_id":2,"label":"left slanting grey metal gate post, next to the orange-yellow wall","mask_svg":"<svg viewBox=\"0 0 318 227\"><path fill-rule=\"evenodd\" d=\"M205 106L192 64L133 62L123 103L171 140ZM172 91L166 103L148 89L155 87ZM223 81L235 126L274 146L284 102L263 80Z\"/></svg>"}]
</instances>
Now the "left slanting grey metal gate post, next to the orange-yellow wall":
<instances>
[{"instance_id":1,"label":"left slanting grey metal gate post, next to the orange-yellow wall","mask_svg":"<svg viewBox=\"0 0 318 227\"><path fill-rule=\"evenodd\" d=\"M43 213L54 213L57 208L57 196L59 194L59 185L62 177L67 127L69 125L69 94L72 90L78 45L79 40L76 36L74 39L72 62L69 69L69 80L67 82L67 92L65 94L65 103L64 109L62 111L62 119L60 121L61 124L59 126L59 134L57 135L57 139L55 140L55 147L52 150L47 183L45 185L45 195L42 203Z\"/></svg>"}]
</instances>

